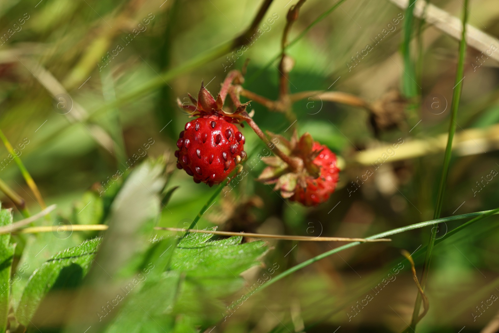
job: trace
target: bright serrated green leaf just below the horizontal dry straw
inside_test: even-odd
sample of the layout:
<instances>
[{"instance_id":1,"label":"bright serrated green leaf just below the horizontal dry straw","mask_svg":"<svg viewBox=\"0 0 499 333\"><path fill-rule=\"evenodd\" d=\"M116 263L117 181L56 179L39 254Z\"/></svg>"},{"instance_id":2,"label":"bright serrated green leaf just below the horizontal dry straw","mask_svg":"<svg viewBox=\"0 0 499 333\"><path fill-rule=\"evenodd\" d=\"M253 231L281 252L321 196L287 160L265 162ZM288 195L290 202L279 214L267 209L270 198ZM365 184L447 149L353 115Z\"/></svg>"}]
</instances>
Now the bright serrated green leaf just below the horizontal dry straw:
<instances>
[{"instance_id":1,"label":"bright serrated green leaf just below the horizontal dry straw","mask_svg":"<svg viewBox=\"0 0 499 333\"><path fill-rule=\"evenodd\" d=\"M203 327L222 319L225 305L220 300L243 288L241 273L260 265L268 250L263 241L240 244L242 237L210 241L212 237L189 234L177 245L170 265L185 276L174 313L187 315Z\"/></svg>"}]
</instances>

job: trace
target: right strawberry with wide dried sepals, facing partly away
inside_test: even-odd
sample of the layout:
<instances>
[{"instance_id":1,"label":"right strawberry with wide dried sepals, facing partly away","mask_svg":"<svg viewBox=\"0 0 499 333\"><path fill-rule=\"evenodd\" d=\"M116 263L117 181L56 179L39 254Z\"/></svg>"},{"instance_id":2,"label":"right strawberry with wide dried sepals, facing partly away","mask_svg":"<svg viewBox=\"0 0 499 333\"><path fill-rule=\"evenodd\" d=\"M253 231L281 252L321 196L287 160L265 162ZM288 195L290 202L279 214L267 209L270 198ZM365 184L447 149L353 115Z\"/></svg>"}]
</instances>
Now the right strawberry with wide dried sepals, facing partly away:
<instances>
[{"instance_id":1,"label":"right strawberry with wide dried sepals, facing partly away","mask_svg":"<svg viewBox=\"0 0 499 333\"><path fill-rule=\"evenodd\" d=\"M280 135L275 135L275 139L278 139L279 149L294 161L295 166L287 165L278 157L264 157L268 166L258 180L275 184L274 190L280 190L283 198L305 206L317 206L327 201L339 178L336 155L315 142L308 133L298 138L295 131L290 141Z\"/></svg>"}]
</instances>

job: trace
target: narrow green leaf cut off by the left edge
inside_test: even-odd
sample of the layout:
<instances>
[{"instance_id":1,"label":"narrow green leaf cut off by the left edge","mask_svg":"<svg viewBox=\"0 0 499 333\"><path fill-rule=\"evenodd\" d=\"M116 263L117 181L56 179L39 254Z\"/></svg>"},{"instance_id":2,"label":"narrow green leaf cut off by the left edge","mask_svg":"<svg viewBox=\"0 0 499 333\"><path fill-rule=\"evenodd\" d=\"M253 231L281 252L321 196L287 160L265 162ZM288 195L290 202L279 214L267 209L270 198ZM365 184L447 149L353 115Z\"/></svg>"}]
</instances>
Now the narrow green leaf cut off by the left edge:
<instances>
[{"instance_id":1,"label":"narrow green leaf cut off by the left edge","mask_svg":"<svg viewBox=\"0 0 499 333\"><path fill-rule=\"evenodd\" d=\"M0 210L0 226L12 224L12 213L8 209ZM10 270L14 245L10 244L10 234L0 235L0 332L7 327L8 299L10 294Z\"/></svg>"}]
</instances>

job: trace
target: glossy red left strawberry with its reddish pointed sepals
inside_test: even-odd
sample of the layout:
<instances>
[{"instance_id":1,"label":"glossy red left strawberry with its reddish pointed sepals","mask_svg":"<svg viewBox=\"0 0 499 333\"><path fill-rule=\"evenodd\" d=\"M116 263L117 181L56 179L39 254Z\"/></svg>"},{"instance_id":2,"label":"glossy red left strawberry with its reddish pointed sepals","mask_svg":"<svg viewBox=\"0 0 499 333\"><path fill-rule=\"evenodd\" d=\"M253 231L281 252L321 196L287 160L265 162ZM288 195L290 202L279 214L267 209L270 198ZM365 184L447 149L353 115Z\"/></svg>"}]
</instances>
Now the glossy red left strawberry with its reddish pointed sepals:
<instances>
[{"instance_id":1,"label":"glossy red left strawberry with its reddish pointed sepals","mask_svg":"<svg viewBox=\"0 0 499 333\"><path fill-rule=\"evenodd\" d=\"M213 186L226 179L246 159L245 137L233 123L237 120L224 115L220 94L215 100L201 85L198 100L189 97L195 105L181 107L195 111L199 118L186 123L180 132L179 150L175 152L177 167L193 176L196 183ZM242 165L238 166L238 172L241 170Z\"/></svg>"}]
</instances>

